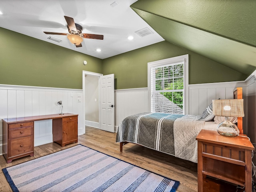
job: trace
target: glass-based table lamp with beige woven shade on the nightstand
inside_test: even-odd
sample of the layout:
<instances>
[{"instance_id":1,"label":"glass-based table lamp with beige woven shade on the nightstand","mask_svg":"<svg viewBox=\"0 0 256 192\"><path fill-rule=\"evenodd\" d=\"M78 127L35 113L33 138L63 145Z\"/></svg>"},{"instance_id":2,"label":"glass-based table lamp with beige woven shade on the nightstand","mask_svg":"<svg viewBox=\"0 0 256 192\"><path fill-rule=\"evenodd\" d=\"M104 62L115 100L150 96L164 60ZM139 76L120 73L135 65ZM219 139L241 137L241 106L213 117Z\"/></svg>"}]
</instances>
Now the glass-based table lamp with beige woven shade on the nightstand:
<instances>
[{"instance_id":1,"label":"glass-based table lamp with beige woven shade on the nightstand","mask_svg":"<svg viewBox=\"0 0 256 192\"><path fill-rule=\"evenodd\" d=\"M224 116L225 121L217 127L219 134L228 137L239 135L236 124L230 122L230 117L244 117L243 99L217 99L212 100L212 111L216 116Z\"/></svg>"}]
</instances>

